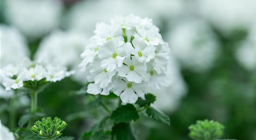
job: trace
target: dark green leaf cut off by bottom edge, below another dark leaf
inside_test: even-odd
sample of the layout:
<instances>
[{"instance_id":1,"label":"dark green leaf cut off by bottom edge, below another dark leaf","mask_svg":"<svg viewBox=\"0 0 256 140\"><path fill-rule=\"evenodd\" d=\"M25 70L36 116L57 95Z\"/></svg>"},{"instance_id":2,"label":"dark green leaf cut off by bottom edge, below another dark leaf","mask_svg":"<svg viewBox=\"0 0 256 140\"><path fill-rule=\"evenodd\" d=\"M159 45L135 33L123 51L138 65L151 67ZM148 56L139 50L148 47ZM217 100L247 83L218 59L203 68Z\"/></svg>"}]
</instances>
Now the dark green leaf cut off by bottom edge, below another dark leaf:
<instances>
[{"instance_id":1,"label":"dark green leaf cut off by bottom edge, below another dark leaf","mask_svg":"<svg viewBox=\"0 0 256 140\"><path fill-rule=\"evenodd\" d=\"M129 123L118 123L112 127L111 135L117 140L136 140Z\"/></svg>"}]
</instances>

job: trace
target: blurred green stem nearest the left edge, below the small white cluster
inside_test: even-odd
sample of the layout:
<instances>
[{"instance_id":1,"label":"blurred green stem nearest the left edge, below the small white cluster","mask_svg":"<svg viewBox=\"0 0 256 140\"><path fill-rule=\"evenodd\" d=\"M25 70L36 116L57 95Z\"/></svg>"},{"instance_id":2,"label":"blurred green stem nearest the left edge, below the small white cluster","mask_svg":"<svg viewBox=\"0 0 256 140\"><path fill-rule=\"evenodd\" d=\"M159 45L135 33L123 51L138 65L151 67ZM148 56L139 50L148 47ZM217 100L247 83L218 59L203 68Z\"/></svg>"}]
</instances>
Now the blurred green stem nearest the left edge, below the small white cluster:
<instances>
[{"instance_id":1,"label":"blurred green stem nearest the left edge, below the small white cluster","mask_svg":"<svg viewBox=\"0 0 256 140\"><path fill-rule=\"evenodd\" d=\"M13 97L11 99L11 121L10 121L10 128L13 129L15 128L16 124L16 96L17 96L17 90L14 90Z\"/></svg>"}]
</instances>

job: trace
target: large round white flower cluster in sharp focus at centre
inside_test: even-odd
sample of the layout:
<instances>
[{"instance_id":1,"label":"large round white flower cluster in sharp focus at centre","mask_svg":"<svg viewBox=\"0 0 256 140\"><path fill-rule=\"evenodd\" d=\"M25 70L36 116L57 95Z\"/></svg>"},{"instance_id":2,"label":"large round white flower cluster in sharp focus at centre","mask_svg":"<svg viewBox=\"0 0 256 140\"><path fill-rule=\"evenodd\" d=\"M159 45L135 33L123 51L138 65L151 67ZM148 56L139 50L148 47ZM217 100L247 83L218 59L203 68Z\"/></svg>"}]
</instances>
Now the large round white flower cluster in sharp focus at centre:
<instances>
[{"instance_id":1,"label":"large round white flower cluster in sharp focus at centre","mask_svg":"<svg viewBox=\"0 0 256 140\"><path fill-rule=\"evenodd\" d=\"M146 88L169 86L169 46L152 19L115 17L110 25L96 24L94 33L81 54L81 70L94 82L88 93L108 95L112 90L124 103L135 103Z\"/></svg>"}]
</instances>

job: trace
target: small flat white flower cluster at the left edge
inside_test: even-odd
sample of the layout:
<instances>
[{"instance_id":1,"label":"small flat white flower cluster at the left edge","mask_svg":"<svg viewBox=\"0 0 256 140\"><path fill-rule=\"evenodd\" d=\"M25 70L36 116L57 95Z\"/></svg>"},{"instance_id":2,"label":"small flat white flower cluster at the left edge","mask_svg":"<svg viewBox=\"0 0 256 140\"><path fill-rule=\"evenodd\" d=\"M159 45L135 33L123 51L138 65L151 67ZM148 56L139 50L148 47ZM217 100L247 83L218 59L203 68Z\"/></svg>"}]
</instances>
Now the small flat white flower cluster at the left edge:
<instances>
[{"instance_id":1,"label":"small flat white flower cluster at the left edge","mask_svg":"<svg viewBox=\"0 0 256 140\"><path fill-rule=\"evenodd\" d=\"M49 63L39 64L28 58L24 58L20 65L9 64L0 71L5 90L21 88L26 81L40 81L45 78L46 81L56 82L73 74L73 71L66 71L65 67Z\"/></svg>"}]
</instances>

